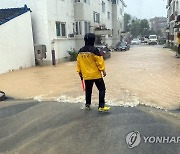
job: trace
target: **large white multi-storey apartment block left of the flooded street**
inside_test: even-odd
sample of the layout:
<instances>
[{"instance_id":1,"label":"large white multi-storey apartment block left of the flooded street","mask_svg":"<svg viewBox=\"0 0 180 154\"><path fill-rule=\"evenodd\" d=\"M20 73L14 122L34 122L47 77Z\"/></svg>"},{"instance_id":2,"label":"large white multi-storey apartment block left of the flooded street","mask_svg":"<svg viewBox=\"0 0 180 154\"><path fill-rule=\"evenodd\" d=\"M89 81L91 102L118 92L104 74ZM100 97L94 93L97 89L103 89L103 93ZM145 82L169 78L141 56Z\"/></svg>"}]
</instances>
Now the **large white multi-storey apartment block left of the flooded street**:
<instances>
[{"instance_id":1,"label":"large white multi-storey apartment block left of the flooded street","mask_svg":"<svg viewBox=\"0 0 180 154\"><path fill-rule=\"evenodd\" d=\"M67 50L84 45L87 32L101 35L103 41L114 46L124 29L123 0L1 0L0 7L19 7L32 10L35 44L47 47L46 62L51 63L51 50L59 62L68 56Z\"/></svg>"}]
</instances>

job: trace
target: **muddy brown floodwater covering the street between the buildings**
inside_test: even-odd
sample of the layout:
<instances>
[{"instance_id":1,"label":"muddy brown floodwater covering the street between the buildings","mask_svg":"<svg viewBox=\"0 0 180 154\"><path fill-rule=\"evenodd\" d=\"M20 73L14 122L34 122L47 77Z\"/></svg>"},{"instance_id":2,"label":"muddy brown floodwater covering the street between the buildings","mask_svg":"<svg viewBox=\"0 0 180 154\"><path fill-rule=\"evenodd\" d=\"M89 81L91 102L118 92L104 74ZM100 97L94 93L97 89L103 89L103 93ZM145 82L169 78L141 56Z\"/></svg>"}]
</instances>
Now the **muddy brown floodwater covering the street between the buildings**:
<instances>
[{"instance_id":1,"label":"muddy brown floodwater covering the street between the buildings","mask_svg":"<svg viewBox=\"0 0 180 154\"><path fill-rule=\"evenodd\" d=\"M106 102L117 106L180 108L180 59L169 49L137 46L106 60ZM76 62L33 67L0 75L0 90L16 99L84 102ZM92 104L98 103L94 86Z\"/></svg>"}]
</instances>

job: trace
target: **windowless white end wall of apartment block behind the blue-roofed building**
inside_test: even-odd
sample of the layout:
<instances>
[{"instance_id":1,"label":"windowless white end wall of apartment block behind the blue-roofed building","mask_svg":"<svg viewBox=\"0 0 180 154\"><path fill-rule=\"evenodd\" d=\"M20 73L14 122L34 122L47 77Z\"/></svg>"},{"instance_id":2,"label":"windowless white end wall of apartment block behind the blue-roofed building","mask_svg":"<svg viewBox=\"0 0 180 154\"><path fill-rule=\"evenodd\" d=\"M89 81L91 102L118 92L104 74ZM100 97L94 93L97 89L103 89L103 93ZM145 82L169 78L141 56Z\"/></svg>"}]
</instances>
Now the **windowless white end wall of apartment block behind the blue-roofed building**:
<instances>
[{"instance_id":1,"label":"windowless white end wall of apartment block behind the blue-roofed building","mask_svg":"<svg viewBox=\"0 0 180 154\"><path fill-rule=\"evenodd\" d=\"M34 44L45 44L47 59L51 59L46 0L0 0L0 8L17 8L27 5L31 9Z\"/></svg>"}]
</instances>

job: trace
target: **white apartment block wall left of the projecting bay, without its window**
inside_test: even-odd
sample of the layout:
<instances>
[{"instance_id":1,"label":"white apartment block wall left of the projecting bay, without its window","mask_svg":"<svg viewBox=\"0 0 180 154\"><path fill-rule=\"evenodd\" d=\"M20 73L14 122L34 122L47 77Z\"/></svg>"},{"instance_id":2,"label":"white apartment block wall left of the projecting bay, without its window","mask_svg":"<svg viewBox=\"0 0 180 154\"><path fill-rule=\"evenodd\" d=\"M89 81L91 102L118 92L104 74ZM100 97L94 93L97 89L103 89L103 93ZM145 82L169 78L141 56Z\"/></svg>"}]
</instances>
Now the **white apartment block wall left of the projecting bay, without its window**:
<instances>
[{"instance_id":1,"label":"white apartment block wall left of the projecting bay, without its window","mask_svg":"<svg viewBox=\"0 0 180 154\"><path fill-rule=\"evenodd\" d=\"M27 4L32 13L32 28L34 44L45 44L47 58L51 63L52 40L55 40L54 48L56 59L67 57L67 50L76 47L75 38L58 38L56 36L56 21L66 22L66 34L73 33L74 10L73 0L1 0L0 8L23 7ZM68 9L67 9L68 8ZM69 40L69 42L68 42Z\"/></svg>"}]
</instances>

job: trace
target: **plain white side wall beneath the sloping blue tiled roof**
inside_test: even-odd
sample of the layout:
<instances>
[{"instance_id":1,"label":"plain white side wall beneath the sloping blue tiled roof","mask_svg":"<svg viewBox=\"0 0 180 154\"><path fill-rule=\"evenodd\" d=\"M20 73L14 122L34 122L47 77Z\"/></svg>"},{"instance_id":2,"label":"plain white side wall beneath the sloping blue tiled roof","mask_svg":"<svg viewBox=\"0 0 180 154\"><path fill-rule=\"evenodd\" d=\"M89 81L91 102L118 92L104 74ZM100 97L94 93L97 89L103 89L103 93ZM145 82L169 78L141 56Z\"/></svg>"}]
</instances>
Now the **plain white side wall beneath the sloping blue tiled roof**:
<instances>
[{"instance_id":1,"label":"plain white side wall beneath the sloping blue tiled roof","mask_svg":"<svg viewBox=\"0 0 180 154\"><path fill-rule=\"evenodd\" d=\"M31 14L0 25L0 74L35 65Z\"/></svg>"}]
</instances>

